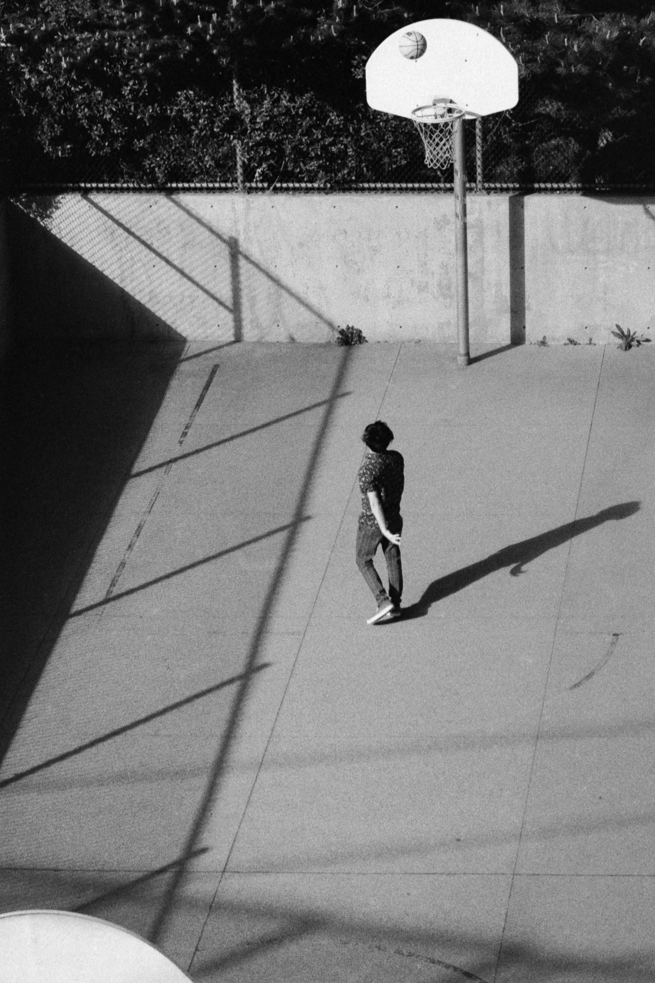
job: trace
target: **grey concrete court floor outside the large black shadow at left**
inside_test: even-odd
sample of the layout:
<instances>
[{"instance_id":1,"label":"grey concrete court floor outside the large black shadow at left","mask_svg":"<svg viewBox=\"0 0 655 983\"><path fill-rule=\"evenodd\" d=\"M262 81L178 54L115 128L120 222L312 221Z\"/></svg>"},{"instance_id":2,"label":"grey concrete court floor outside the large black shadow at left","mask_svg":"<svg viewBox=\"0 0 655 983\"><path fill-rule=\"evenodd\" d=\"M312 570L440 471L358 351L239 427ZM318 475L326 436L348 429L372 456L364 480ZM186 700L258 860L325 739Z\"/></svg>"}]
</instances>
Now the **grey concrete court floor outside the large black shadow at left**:
<instances>
[{"instance_id":1,"label":"grey concrete court floor outside the large black shadow at left","mask_svg":"<svg viewBox=\"0 0 655 983\"><path fill-rule=\"evenodd\" d=\"M654 371L649 346L149 364L24 631L0 910L107 918L199 981L655 979ZM376 418L405 616L369 627Z\"/></svg>"}]
</instances>

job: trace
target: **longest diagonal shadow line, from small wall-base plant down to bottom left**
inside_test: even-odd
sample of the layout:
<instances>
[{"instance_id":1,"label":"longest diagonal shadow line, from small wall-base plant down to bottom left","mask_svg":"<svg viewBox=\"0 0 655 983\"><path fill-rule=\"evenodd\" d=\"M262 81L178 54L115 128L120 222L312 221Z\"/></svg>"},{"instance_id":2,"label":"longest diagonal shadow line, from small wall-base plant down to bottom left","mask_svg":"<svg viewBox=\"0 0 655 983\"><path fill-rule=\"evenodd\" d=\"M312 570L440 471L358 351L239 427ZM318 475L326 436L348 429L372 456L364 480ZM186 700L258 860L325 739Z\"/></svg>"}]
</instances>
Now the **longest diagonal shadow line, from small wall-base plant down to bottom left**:
<instances>
[{"instance_id":1,"label":"longest diagonal shadow line, from small wall-base plant down to bottom left","mask_svg":"<svg viewBox=\"0 0 655 983\"><path fill-rule=\"evenodd\" d=\"M339 390L341 389L343 378L345 376L346 368L348 365L350 355L350 349L344 348L341 353L340 360L338 363L338 369L334 376L331 390L329 393L329 399L324 412L323 420L319 431L314 440L312 450L310 453L309 463L307 465L305 474L300 487L300 492L298 493L298 499L296 502L296 507L294 511L293 521L289 527L287 533L286 541L284 547L280 553L277 565L270 579L270 584L268 587L267 596L265 598L264 604L262 605L260 615L258 618L258 623L253 633L253 638L250 644L250 649L248 652L248 657L246 659L246 665L244 668L244 675L241 682L238 685L237 692L235 694L232 707L230 710L227 723L223 731L223 735L218 746L216 756L214 758L213 766L209 775L208 783L205 789L205 793L198 807L196 813L196 818L194 820L193 826L189 831L189 836L187 838L185 848L182 851L182 856L191 856L193 850L197 848L199 838L203 834L205 828L205 823L208 817L208 813L211 807L211 803L215 801L216 795L220 788L221 779L225 772L225 767L227 764L228 754L232 745L232 740L236 732L237 725L241 718L243 708L246 702L250 690L250 675L252 673L253 667L257 664L259 658L260 648L264 641L264 636L268 626L268 620L270 618L273 606L277 599L277 594L282 583L284 572L291 555L298 531L300 529L301 523L304 521L303 512L305 510L305 505L312 488L314 476L318 467L319 458L324 441L327 436L327 429L329 427L329 422L332 416L332 411L336 399L338 397ZM171 885L166 892L163 904L152 923L152 927L149 932L149 940L155 945L160 938L162 932L164 931L168 919L170 917L173 904L175 901L175 896L177 895L178 889L182 882L182 879L186 873L186 863L181 863L175 875L172 879Z\"/></svg>"}]
</instances>

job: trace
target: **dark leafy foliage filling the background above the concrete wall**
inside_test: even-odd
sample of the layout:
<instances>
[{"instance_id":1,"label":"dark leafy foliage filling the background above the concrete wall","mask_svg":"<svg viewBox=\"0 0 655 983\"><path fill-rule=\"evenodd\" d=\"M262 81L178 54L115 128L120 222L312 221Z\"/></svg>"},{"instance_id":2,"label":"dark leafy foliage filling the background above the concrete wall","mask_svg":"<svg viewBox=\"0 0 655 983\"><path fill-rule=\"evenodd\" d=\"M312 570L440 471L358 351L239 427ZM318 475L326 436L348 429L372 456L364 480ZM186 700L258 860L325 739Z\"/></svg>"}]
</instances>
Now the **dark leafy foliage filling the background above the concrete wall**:
<instances>
[{"instance_id":1,"label":"dark leafy foliage filling the background above the concrete wall","mask_svg":"<svg viewBox=\"0 0 655 983\"><path fill-rule=\"evenodd\" d=\"M615 10L620 7L620 10ZM10 181L402 179L411 126L368 109L394 29L454 17L503 40L519 106L485 122L498 181L655 181L655 14L626 0L0 0ZM236 85L236 87L235 87Z\"/></svg>"}]
</instances>

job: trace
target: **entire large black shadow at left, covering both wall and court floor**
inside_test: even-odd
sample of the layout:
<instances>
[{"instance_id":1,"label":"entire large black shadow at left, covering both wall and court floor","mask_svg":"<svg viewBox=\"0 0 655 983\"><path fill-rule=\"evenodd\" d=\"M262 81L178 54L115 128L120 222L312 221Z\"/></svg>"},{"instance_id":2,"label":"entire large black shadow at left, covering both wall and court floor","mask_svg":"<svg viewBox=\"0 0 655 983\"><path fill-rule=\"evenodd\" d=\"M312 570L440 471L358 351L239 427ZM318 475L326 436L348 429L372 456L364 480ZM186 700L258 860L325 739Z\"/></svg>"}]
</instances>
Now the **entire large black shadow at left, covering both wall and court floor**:
<instances>
[{"instance_id":1,"label":"entire large black shadow at left, covering both wall and court floor","mask_svg":"<svg viewBox=\"0 0 655 983\"><path fill-rule=\"evenodd\" d=\"M13 342L0 369L0 760L185 346L17 207L9 240Z\"/></svg>"}]
</instances>

